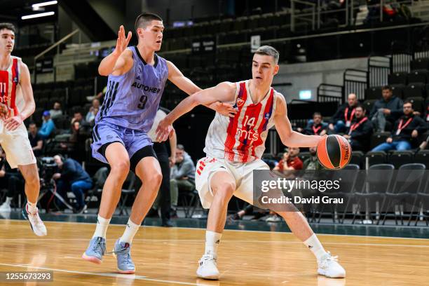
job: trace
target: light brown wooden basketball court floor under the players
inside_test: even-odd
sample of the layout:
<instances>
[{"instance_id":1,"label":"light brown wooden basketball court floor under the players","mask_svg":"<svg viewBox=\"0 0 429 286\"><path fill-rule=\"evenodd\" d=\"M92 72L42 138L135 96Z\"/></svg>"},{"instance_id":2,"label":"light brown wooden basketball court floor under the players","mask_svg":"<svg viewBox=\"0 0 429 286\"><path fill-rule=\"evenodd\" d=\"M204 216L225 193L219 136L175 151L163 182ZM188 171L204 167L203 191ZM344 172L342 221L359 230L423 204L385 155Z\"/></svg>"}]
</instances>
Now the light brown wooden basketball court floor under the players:
<instances>
[{"instance_id":1,"label":"light brown wooden basketball court floor under the players","mask_svg":"<svg viewBox=\"0 0 429 286\"><path fill-rule=\"evenodd\" d=\"M38 285L429 285L428 239L319 235L347 271L346 279L329 279L317 275L313 254L291 233L226 230L219 246L221 278L207 281L195 275L204 229L143 226L132 245L137 271L125 275L116 273L111 254L100 266L81 259L94 224L46 226L48 236L38 238L28 222L1 219L0 271L53 271L53 282ZM109 226L107 251L123 229Z\"/></svg>"}]
</instances>

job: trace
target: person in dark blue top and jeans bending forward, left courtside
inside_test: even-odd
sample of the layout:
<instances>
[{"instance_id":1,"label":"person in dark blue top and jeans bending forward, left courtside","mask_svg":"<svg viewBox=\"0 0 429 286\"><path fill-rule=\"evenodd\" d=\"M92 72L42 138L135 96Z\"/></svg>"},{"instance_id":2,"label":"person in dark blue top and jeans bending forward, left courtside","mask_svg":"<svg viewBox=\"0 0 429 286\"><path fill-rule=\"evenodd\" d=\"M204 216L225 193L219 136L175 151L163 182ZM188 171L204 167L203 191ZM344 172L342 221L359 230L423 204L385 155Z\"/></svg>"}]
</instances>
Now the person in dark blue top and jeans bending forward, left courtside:
<instances>
[{"instance_id":1,"label":"person in dark blue top and jeans bending forward, left courtside","mask_svg":"<svg viewBox=\"0 0 429 286\"><path fill-rule=\"evenodd\" d=\"M53 175L57 181L57 191L63 198L67 198L67 191L72 191L76 196L75 213L82 213L86 210L85 192L93 188L93 179L83 170L77 161L55 155L54 161L60 172Z\"/></svg>"}]
</instances>

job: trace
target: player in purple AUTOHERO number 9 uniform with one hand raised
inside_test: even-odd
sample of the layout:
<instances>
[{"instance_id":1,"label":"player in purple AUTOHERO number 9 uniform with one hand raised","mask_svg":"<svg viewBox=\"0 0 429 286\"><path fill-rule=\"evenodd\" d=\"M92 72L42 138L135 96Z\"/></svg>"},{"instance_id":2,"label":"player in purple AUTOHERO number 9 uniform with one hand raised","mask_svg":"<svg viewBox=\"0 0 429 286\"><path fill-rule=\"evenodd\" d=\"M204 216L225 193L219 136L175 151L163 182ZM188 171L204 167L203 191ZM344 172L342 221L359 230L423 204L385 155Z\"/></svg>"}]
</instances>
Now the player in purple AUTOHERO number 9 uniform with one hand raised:
<instances>
[{"instance_id":1,"label":"player in purple AUTOHERO number 9 uniform with one hand raised","mask_svg":"<svg viewBox=\"0 0 429 286\"><path fill-rule=\"evenodd\" d=\"M97 226L82 258L96 264L106 254L106 232L121 188L132 170L142 180L128 223L121 238L114 244L119 273L135 273L130 256L132 238L137 233L149 208L154 203L161 185L161 167L147 134L151 129L165 82L169 79L178 88L191 95L200 91L192 81L163 57L156 55L163 40L163 21L152 13L142 13L135 21L137 46L128 47L131 32L125 38L119 28L115 50L104 57L99 74L109 76L107 93L93 128L93 157L109 163L110 172L103 186ZM231 104L215 102L210 108L226 116L233 116Z\"/></svg>"}]
</instances>

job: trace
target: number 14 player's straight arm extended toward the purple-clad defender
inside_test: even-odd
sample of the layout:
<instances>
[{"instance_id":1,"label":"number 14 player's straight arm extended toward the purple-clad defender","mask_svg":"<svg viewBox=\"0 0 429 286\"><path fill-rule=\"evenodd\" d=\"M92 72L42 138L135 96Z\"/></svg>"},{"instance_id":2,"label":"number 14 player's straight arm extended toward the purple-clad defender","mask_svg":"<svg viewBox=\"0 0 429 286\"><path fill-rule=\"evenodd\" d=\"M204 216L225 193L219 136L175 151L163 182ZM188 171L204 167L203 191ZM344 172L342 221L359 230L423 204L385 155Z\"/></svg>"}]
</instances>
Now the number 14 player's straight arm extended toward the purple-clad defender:
<instances>
[{"instance_id":1,"label":"number 14 player's straight arm extended toward the purple-clad defender","mask_svg":"<svg viewBox=\"0 0 429 286\"><path fill-rule=\"evenodd\" d=\"M232 102L236 95L236 84L230 82L219 83L213 88L201 90L198 93L186 97L173 109L159 124L156 129L157 140L165 141L172 130L172 123L177 118L188 113L199 104L212 104L213 102Z\"/></svg>"}]
</instances>

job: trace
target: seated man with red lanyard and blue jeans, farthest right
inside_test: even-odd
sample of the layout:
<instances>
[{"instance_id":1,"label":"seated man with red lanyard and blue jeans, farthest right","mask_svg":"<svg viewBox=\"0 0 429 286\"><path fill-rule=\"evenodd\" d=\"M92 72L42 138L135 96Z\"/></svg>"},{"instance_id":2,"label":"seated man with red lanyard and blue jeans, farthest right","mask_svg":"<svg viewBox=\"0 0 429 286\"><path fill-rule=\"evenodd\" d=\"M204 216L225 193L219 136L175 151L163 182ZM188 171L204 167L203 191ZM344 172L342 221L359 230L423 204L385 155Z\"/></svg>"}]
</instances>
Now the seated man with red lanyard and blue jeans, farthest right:
<instances>
[{"instance_id":1,"label":"seated man with red lanyard and blue jeans, farthest right","mask_svg":"<svg viewBox=\"0 0 429 286\"><path fill-rule=\"evenodd\" d=\"M386 143L372 149L372 151L409 150L419 134L425 132L426 126L422 118L414 115L413 104L408 100L404 102L404 115L395 123L392 135Z\"/></svg>"}]
</instances>

